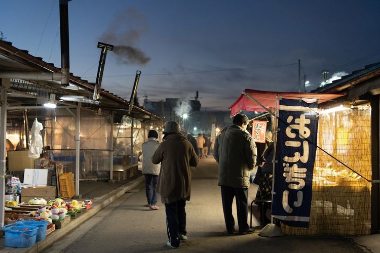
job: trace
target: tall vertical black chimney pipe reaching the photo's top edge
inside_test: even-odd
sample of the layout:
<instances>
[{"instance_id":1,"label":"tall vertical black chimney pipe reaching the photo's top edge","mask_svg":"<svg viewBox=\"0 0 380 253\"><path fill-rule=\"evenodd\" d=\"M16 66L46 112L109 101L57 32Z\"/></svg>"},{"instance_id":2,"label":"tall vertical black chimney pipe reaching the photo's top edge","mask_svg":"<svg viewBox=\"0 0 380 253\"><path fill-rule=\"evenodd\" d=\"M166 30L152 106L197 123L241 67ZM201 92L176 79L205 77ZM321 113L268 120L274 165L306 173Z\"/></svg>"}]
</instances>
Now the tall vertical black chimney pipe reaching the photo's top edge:
<instances>
[{"instance_id":1,"label":"tall vertical black chimney pipe reaching the photo's top edge","mask_svg":"<svg viewBox=\"0 0 380 253\"><path fill-rule=\"evenodd\" d=\"M59 0L59 21L61 31L61 71L65 77L61 81L61 86L67 87L70 82L70 54L68 39L68 5L71 0Z\"/></svg>"}]
</instances>

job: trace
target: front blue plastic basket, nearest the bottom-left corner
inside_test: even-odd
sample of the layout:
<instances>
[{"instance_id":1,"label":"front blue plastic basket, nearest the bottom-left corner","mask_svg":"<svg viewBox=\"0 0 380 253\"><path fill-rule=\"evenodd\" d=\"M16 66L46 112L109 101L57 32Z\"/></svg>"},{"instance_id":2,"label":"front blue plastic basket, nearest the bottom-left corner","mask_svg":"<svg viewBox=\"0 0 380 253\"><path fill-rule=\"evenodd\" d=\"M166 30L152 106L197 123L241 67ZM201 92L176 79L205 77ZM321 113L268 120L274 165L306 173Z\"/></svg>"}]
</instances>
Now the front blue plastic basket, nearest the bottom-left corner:
<instances>
[{"instance_id":1,"label":"front blue plastic basket, nearest the bottom-left corner","mask_svg":"<svg viewBox=\"0 0 380 253\"><path fill-rule=\"evenodd\" d=\"M25 226L22 224L10 227L7 226L3 227L5 232L5 245L7 247L23 248L35 244L35 238L39 229L38 227ZM27 230L25 231L24 229Z\"/></svg>"}]
</instances>

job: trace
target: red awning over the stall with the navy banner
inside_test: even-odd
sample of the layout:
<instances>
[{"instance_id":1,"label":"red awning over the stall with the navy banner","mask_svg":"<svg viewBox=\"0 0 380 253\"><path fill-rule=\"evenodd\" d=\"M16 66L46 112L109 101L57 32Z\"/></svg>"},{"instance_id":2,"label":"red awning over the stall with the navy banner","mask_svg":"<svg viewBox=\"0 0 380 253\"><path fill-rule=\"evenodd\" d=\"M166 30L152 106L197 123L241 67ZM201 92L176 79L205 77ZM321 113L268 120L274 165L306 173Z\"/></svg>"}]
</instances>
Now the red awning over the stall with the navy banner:
<instances>
[{"instance_id":1,"label":"red awning over the stall with the navy banner","mask_svg":"<svg viewBox=\"0 0 380 253\"><path fill-rule=\"evenodd\" d=\"M245 93L258 101L265 108L276 107L276 95L280 98L286 99L300 99L307 103L323 103L329 100L343 96L343 94L322 94L322 93L299 93L299 92L268 92L245 89ZM243 92L242 92L243 93ZM241 111L265 111L260 105L252 101L246 95L241 94L238 100L235 101L230 107L231 116L235 116Z\"/></svg>"}]
</instances>

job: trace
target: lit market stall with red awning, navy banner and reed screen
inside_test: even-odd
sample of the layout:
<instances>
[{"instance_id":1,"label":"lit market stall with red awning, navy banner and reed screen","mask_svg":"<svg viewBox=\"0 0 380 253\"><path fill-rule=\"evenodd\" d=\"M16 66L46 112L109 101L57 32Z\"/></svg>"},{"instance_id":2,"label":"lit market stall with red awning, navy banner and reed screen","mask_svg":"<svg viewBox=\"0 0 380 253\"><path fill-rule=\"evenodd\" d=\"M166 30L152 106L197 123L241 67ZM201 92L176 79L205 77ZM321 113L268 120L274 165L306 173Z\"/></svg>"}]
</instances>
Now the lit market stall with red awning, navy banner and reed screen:
<instances>
[{"instance_id":1,"label":"lit market stall with red awning, navy banner and reed screen","mask_svg":"<svg viewBox=\"0 0 380 253\"><path fill-rule=\"evenodd\" d=\"M274 125L278 128L275 136L279 140L275 145L279 149L275 158L288 159L274 165L272 215L282 220L284 233L363 235L370 232L370 113L366 106L354 109L351 106L331 106L341 96L245 90L230 106L232 116L242 110L267 111L273 115ZM313 102L315 104L311 105ZM330 108L322 103L329 104ZM281 119L283 112L290 114ZM295 140L289 140L289 136L301 133L297 126L289 126L290 122L293 118L302 121L302 117L308 124L312 117L317 120L315 139L299 134L303 144L296 147L298 155L315 147L316 150L309 154L311 160L307 161L302 156L298 157L299 160L303 158L305 161L292 160L285 154L280 157L279 153L288 151L284 151L285 146L295 143ZM308 166L311 166L309 171ZM308 187L309 190L305 190ZM291 196L292 190L294 196ZM295 210L301 209L302 205L302 211L296 213Z\"/></svg>"}]
</instances>

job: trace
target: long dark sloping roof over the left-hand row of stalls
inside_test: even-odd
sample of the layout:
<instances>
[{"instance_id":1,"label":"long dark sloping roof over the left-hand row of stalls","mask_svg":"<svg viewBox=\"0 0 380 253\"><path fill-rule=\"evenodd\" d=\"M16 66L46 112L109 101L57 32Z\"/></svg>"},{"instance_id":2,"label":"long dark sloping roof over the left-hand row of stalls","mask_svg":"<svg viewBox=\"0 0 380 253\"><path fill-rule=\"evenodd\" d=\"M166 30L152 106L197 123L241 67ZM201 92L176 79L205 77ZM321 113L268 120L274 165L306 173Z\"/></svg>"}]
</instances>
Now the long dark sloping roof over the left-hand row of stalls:
<instances>
[{"instance_id":1,"label":"long dark sloping roof over the left-hand row of stalls","mask_svg":"<svg viewBox=\"0 0 380 253\"><path fill-rule=\"evenodd\" d=\"M61 73L61 69L56 67L53 63L43 61L41 57L34 57L26 50L20 50L12 46L9 41L0 40L0 72L1 71L35 71L35 72L48 72L48 73ZM12 105L35 105L35 97L37 91L46 91L56 94L57 100L63 95L77 95L86 96L92 98L95 84L90 83L87 80L81 79L79 76L75 76L70 73L70 83L78 90L67 90L60 85L59 81L52 80L38 80L29 79L22 80L13 79L11 86L8 88L13 94L10 96L10 102ZM20 96L16 96L20 94ZM22 94L22 99L21 98ZM29 94L30 98L25 99L25 94ZM18 99L19 98L19 99ZM73 104L72 102L57 101L62 105ZM77 103L74 103L75 105ZM127 115L129 108L129 101L110 93L104 89L100 92L100 104L92 105L82 103L82 107L97 110L102 108L104 110L113 111L116 114ZM144 110L143 108L134 106L131 115L139 120L156 119L162 120L159 116Z\"/></svg>"}]
</instances>

